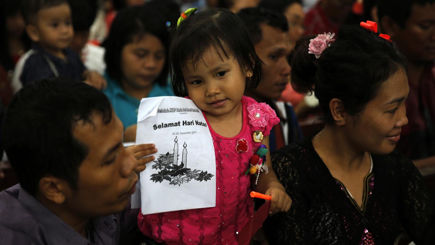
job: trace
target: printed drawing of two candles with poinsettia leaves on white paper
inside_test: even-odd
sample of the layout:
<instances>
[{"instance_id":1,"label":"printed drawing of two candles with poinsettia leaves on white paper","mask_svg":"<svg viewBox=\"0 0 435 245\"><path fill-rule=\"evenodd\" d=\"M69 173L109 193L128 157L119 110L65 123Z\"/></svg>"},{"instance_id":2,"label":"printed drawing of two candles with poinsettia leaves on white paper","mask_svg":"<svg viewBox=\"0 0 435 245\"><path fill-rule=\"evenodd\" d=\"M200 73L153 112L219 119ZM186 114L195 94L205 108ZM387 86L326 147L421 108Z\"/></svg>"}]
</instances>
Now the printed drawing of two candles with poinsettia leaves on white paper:
<instances>
[{"instance_id":1,"label":"printed drawing of two candles with poinsettia leaves on white paper","mask_svg":"<svg viewBox=\"0 0 435 245\"><path fill-rule=\"evenodd\" d=\"M154 160L152 169L156 169L157 174L151 174L153 182L162 183L164 180L169 181L170 185L178 185L188 183L191 180L207 181L214 177L214 174L209 174L207 171L187 168L187 144L183 144L183 153L181 163L178 164L178 140L174 140L174 152L160 154L157 160ZM175 156L175 157L174 157Z\"/></svg>"}]
</instances>

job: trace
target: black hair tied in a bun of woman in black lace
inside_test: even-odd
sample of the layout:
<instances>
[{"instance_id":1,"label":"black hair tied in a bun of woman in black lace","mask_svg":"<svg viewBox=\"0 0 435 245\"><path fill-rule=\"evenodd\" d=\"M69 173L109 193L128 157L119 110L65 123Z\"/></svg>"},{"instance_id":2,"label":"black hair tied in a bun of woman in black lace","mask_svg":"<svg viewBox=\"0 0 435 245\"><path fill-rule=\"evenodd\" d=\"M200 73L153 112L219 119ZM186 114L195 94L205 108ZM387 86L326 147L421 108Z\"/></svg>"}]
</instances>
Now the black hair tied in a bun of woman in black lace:
<instances>
[{"instance_id":1,"label":"black hair tied in a bun of woman in black lace","mask_svg":"<svg viewBox=\"0 0 435 245\"><path fill-rule=\"evenodd\" d=\"M297 92L315 93L327 123L333 122L331 99L340 99L346 112L358 115L391 75L405 69L405 58L393 43L362 27L341 28L318 59L308 54L312 38L302 37L296 43L291 85Z\"/></svg>"}]
</instances>

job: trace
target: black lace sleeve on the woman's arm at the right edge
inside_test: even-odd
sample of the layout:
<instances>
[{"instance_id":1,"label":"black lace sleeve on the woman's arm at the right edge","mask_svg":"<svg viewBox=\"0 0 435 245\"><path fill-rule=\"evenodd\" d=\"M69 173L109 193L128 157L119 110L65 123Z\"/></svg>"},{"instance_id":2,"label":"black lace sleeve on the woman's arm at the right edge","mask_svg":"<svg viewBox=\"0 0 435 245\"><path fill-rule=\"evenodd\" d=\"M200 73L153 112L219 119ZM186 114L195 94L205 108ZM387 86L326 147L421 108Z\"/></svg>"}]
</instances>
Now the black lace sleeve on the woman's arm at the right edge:
<instances>
[{"instance_id":1,"label":"black lace sleeve on the woman's arm at the right edge","mask_svg":"<svg viewBox=\"0 0 435 245\"><path fill-rule=\"evenodd\" d=\"M435 203L424 183L423 177L406 157L397 159L399 171L400 221L416 245L435 244Z\"/></svg>"}]
</instances>

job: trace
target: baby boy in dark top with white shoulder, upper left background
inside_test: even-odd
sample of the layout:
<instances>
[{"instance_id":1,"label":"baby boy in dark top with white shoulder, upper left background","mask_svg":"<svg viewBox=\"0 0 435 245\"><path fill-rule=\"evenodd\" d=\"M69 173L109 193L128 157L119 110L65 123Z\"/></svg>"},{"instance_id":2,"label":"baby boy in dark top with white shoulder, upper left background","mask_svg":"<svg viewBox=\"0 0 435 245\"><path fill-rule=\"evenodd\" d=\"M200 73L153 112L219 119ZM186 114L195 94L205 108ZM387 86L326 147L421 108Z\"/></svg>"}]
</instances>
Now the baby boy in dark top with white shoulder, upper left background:
<instances>
[{"instance_id":1,"label":"baby boy in dark top with white shoulder, upper left background","mask_svg":"<svg viewBox=\"0 0 435 245\"><path fill-rule=\"evenodd\" d=\"M96 88L106 86L104 78L88 71L79 55L68 48L74 36L67 0L24 0L23 15L32 49L24 54L13 75L14 90L44 78L72 78Z\"/></svg>"}]
</instances>

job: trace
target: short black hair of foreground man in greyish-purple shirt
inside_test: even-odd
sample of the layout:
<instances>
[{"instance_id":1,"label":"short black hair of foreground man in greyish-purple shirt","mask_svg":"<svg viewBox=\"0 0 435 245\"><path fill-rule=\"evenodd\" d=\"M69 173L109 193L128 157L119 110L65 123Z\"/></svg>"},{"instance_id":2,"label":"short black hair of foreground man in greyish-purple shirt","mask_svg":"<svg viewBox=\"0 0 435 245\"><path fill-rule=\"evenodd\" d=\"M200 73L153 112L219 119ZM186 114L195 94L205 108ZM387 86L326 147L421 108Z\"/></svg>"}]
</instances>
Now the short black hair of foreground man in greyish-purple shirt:
<instances>
[{"instance_id":1,"label":"short black hair of foreground man in greyish-purple shirt","mask_svg":"<svg viewBox=\"0 0 435 245\"><path fill-rule=\"evenodd\" d=\"M84 82L46 79L14 95L4 114L1 141L24 190L34 196L40 179L49 175L77 190L89 147L73 131L81 121L92 125L94 113L105 125L112 120L107 97Z\"/></svg>"}]
</instances>

